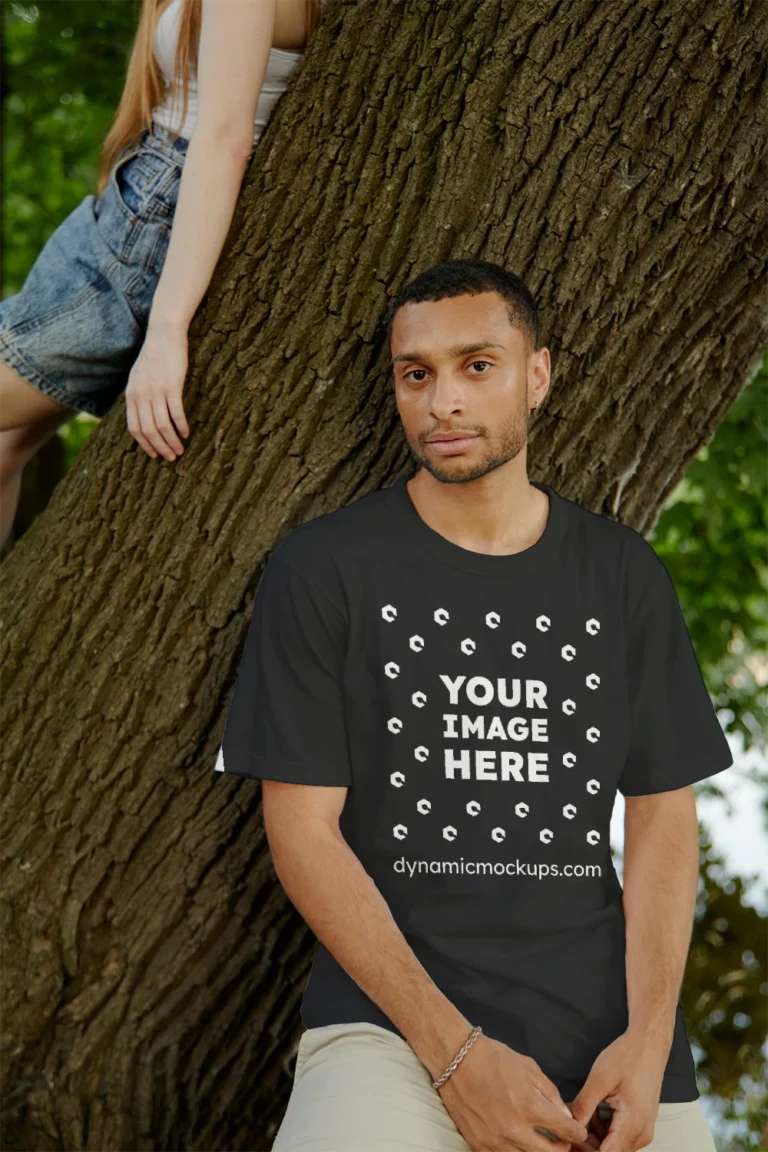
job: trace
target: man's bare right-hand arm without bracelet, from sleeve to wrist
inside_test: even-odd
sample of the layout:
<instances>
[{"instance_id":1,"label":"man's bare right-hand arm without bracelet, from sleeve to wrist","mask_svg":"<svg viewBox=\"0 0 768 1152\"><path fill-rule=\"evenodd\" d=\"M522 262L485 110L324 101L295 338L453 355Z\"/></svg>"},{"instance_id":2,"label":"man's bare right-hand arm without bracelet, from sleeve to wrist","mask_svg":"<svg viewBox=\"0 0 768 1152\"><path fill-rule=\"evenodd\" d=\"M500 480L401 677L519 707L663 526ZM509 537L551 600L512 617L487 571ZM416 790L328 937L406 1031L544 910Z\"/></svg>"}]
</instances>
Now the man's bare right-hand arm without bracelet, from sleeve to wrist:
<instances>
[{"instance_id":1,"label":"man's bare right-hand arm without bracelet, from sleeve to wrist","mask_svg":"<svg viewBox=\"0 0 768 1152\"><path fill-rule=\"evenodd\" d=\"M691 788L628 797L624 916L629 1029L664 1059L689 947L699 874Z\"/></svg>"}]
</instances>

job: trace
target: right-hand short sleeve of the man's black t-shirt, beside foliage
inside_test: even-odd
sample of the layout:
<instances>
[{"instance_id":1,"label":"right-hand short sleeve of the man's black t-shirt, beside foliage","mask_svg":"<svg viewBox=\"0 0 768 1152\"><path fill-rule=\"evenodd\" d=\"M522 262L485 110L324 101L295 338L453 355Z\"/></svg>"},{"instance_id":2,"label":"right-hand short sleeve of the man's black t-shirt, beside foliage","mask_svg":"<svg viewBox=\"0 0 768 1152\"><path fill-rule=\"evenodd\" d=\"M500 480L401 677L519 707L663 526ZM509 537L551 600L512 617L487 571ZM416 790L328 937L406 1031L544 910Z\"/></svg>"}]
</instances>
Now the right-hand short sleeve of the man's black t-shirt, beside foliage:
<instances>
[{"instance_id":1,"label":"right-hand short sleeve of the man's black t-shirt, beside foliage","mask_svg":"<svg viewBox=\"0 0 768 1152\"><path fill-rule=\"evenodd\" d=\"M642 539L641 592L629 606L630 738L624 796L684 788L733 763L663 561Z\"/></svg>"}]
</instances>

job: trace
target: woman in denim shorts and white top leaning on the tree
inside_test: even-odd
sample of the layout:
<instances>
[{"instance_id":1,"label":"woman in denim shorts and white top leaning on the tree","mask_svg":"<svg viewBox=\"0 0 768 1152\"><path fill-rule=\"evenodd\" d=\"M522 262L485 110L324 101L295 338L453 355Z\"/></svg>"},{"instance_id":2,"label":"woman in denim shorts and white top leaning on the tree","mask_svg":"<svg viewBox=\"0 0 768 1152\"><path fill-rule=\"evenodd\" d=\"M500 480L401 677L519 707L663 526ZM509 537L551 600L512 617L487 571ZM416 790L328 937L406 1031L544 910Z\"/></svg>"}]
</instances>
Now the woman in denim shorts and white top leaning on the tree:
<instances>
[{"instance_id":1,"label":"woman in denim shorts and white top leaning on the tree","mask_svg":"<svg viewBox=\"0 0 768 1152\"><path fill-rule=\"evenodd\" d=\"M183 452L189 324L320 5L144 0L97 195L0 302L0 544L24 464L76 411L104 416L124 389L147 455Z\"/></svg>"}]
</instances>

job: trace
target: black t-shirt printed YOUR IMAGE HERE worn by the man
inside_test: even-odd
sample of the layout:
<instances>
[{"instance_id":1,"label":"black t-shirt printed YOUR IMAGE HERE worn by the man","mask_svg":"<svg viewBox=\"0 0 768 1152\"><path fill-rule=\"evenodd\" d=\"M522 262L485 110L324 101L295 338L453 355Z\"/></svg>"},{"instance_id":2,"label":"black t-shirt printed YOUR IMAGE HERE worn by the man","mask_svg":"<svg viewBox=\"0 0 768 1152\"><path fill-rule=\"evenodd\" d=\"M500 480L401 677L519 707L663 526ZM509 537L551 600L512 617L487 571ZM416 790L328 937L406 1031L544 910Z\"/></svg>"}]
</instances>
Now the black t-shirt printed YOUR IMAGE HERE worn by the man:
<instances>
[{"instance_id":1,"label":"black t-shirt printed YOUR IMAGE HERE worn by the man","mask_svg":"<svg viewBox=\"0 0 768 1152\"><path fill-rule=\"evenodd\" d=\"M216 768L348 786L341 832L426 971L570 1100L628 1024L616 790L732 757L651 544L535 486L545 531L512 554L448 540L404 480L290 531ZM321 942L302 1020L402 1034ZM661 1100L698 1096L678 1003Z\"/></svg>"}]
</instances>

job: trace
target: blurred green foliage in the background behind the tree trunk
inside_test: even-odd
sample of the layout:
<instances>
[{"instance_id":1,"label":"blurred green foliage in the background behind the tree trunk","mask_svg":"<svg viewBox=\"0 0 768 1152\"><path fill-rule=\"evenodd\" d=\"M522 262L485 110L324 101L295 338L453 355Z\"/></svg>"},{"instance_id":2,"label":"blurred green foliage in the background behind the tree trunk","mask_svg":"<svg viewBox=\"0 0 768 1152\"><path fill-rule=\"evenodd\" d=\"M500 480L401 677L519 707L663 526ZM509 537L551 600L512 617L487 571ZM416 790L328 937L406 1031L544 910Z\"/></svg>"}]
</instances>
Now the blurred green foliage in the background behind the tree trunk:
<instances>
[{"instance_id":1,"label":"blurred green foliage in the background behind the tree trunk","mask_svg":"<svg viewBox=\"0 0 768 1152\"><path fill-rule=\"evenodd\" d=\"M138 8L126 0L12 3L5 17L2 295L96 190ZM60 435L70 467L98 422ZM762 755L768 827L768 358L687 470L649 539L675 581L701 668L744 750ZM716 780L705 786L717 793ZM716 836L716 827L714 829ZM768 849L768 832L762 864ZM721 1152L768 1149L768 909L701 829L702 877L682 993ZM759 862L755 861L759 866ZM755 907L756 905L756 907Z\"/></svg>"}]
</instances>

